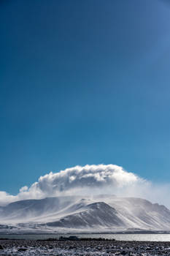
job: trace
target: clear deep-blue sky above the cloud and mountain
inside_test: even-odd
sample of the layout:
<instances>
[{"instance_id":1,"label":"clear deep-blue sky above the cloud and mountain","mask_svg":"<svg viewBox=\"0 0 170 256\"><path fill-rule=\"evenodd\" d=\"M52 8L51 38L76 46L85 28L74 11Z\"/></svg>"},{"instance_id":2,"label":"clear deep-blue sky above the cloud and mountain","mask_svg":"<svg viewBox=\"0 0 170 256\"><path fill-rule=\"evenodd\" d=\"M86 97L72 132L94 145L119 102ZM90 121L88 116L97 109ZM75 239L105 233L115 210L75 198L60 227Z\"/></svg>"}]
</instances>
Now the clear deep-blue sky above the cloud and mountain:
<instances>
[{"instance_id":1,"label":"clear deep-blue sky above the cloud and mountain","mask_svg":"<svg viewBox=\"0 0 170 256\"><path fill-rule=\"evenodd\" d=\"M0 190L115 164L170 179L170 6L1 1Z\"/></svg>"}]
</instances>

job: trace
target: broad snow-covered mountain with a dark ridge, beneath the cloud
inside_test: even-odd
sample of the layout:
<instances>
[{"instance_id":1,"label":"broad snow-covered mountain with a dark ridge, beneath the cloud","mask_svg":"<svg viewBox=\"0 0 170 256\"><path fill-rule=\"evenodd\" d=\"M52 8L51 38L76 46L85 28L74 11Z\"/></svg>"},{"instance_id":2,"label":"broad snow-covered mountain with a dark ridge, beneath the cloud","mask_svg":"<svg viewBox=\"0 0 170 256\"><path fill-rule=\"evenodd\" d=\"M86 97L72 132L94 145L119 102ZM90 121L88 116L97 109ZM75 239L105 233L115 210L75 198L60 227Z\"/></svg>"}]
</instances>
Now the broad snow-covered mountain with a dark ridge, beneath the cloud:
<instances>
[{"instance_id":1,"label":"broad snow-covered mountain with a dark ridge, beneath the cloud","mask_svg":"<svg viewBox=\"0 0 170 256\"><path fill-rule=\"evenodd\" d=\"M0 225L42 230L170 230L170 211L135 197L49 197L0 207Z\"/></svg>"}]
</instances>

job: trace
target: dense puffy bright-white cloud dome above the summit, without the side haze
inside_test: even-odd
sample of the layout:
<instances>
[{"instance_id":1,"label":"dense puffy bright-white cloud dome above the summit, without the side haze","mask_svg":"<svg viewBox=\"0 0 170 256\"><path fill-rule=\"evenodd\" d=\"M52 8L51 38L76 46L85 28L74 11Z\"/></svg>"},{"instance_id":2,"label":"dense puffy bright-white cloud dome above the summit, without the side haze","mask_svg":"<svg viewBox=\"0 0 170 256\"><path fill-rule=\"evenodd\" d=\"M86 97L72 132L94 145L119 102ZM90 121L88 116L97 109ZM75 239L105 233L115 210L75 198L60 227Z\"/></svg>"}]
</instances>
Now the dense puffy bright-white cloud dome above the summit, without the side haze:
<instances>
[{"instance_id":1,"label":"dense puffy bright-white cloud dome above the summit, without the side haze","mask_svg":"<svg viewBox=\"0 0 170 256\"><path fill-rule=\"evenodd\" d=\"M134 184L139 178L134 173L128 173L117 165L85 165L61 170L59 173L49 173L39 178L34 184L36 189L50 195L56 192L66 192L72 189L102 189L102 187L123 187Z\"/></svg>"}]
</instances>

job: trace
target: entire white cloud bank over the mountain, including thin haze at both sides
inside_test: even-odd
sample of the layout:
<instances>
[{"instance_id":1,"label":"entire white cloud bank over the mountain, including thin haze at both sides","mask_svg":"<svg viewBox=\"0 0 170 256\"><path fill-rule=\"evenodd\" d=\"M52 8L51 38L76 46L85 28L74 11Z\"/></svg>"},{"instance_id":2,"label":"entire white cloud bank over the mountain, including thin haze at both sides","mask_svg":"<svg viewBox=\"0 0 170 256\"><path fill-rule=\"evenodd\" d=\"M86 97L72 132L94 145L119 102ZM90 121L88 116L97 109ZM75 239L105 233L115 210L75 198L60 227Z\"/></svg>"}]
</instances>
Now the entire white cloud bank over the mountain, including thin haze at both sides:
<instances>
[{"instance_id":1,"label":"entire white cloud bank over the mountain, including thin haze at both sides","mask_svg":"<svg viewBox=\"0 0 170 256\"><path fill-rule=\"evenodd\" d=\"M61 195L98 195L143 197L169 206L164 195L169 185L152 184L117 165L85 165L66 168L40 176L31 187L22 187L18 195L0 191L0 206L16 200L40 199Z\"/></svg>"}]
</instances>

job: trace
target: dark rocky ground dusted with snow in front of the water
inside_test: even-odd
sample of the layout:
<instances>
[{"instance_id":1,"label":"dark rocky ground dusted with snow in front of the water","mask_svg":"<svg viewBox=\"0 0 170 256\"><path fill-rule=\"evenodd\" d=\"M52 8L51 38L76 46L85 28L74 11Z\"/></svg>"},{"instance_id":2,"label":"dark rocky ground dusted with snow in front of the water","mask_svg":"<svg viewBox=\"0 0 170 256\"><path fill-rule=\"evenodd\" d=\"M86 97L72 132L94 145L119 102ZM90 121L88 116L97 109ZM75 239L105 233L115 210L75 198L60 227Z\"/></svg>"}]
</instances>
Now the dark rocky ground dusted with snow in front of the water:
<instances>
[{"instance_id":1,"label":"dark rocky ground dusted with snow in front of the water","mask_svg":"<svg viewBox=\"0 0 170 256\"><path fill-rule=\"evenodd\" d=\"M170 242L0 240L0 255L170 255Z\"/></svg>"}]
</instances>

